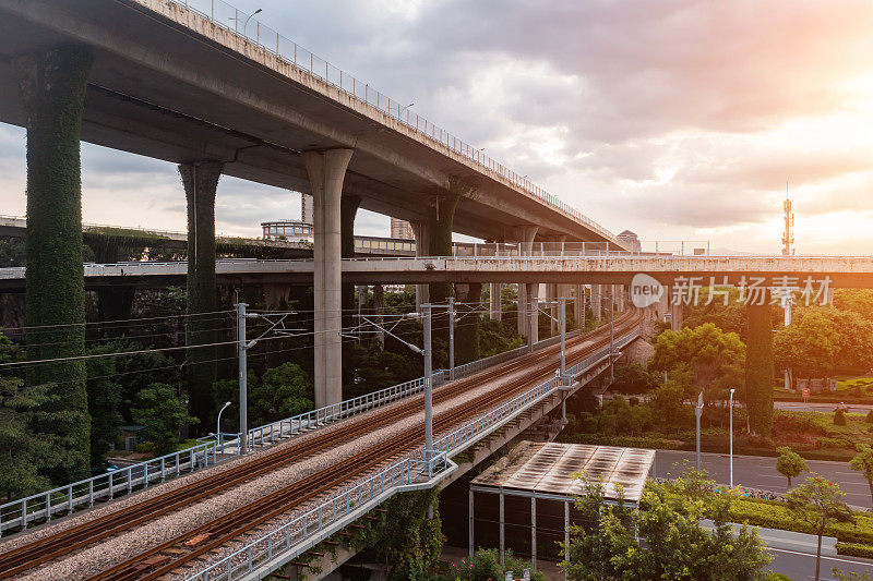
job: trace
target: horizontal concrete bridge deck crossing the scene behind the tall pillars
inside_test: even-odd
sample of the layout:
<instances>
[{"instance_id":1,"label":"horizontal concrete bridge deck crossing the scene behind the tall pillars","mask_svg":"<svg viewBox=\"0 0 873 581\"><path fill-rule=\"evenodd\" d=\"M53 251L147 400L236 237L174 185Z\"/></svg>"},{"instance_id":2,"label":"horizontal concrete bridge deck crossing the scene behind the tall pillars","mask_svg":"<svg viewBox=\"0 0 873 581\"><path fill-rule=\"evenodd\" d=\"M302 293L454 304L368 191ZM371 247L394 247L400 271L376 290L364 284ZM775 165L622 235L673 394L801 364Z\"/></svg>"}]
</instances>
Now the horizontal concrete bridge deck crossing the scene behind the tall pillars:
<instances>
[{"instance_id":1,"label":"horizontal concrete bridge deck crossing the scene behind the tall pillars","mask_svg":"<svg viewBox=\"0 0 873 581\"><path fill-rule=\"evenodd\" d=\"M85 282L99 286L166 286L183 281L186 262L86 264ZM0 268L0 290L24 288L24 267ZM225 259L216 274L225 283L311 285L311 261ZM423 258L349 258L343 279L355 283L555 282L629 285L647 273L665 283L736 285L761 278L762 286L803 287L829 277L832 287L873 287L871 256L456 256ZM786 279L787 277L787 279Z\"/></svg>"}]
</instances>

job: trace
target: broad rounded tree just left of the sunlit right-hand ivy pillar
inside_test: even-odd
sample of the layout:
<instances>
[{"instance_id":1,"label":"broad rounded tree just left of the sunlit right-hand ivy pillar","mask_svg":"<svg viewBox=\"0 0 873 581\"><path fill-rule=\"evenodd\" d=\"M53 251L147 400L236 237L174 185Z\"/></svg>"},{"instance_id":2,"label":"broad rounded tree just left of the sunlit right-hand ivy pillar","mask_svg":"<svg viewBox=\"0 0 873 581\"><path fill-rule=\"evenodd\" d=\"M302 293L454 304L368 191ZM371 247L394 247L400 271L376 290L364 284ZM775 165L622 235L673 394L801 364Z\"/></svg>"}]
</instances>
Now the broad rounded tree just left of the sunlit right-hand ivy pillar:
<instances>
[{"instance_id":1,"label":"broad rounded tree just left of the sunlit right-hand ivy pillar","mask_svg":"<svg viewBox=\"0 0 873 581\"><path fill-rule=\"evenodd\" d=\"M684 370L691 384L686 397L701 390L725 390L742 382L745 344L736 332L725 332L711 323L683 327L679 332L666 330L655 340L655 354L649 370L671 372Z\"/></svg>"}]
</instances>

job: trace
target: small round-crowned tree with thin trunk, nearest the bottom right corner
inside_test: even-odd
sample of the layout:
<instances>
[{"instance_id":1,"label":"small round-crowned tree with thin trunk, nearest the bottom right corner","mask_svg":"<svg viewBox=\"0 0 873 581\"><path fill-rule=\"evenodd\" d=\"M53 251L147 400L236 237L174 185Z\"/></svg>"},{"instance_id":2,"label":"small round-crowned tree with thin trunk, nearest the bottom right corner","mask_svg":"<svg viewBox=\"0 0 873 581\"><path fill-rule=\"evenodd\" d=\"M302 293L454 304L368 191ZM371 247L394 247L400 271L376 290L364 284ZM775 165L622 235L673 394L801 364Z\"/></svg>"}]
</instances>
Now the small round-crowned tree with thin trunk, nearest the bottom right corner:
<instances>
[{"instance_id":1,"label":"small round-crowned tree with thin trunk, nearest the bottom right corner","mask_svg":"<svg viewBox=\"0 0 873 581\"><path fill-rule=\"evenodd\" d=\"M851 522L852 511L842 501L846 496L839 485L813 472L804 484L789 491L786 501L792 516L812 526L818 535L818 547L815 552L815 581L818 581L818 570L822 561L822 536L828 524L835 522Z\"/></svg>"}]
</instances>

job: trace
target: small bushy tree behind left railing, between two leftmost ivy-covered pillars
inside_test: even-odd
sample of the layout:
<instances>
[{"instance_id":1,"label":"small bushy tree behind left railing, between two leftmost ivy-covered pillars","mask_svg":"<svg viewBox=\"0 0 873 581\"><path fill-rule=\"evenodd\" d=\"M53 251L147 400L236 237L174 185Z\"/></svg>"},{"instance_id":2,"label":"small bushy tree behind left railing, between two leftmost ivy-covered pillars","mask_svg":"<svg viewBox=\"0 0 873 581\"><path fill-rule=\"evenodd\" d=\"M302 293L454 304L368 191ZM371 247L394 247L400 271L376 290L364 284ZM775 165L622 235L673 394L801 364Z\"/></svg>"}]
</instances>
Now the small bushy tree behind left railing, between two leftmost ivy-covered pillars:
<instances>
[{"instance_id":1,"label":"small bushy tree behind left railing, between two leftmost ivy-covered pillars","mask_svg":"<svg viewBox=\"0 0 873 581\"><path fill-rule=\"evenodd\" d=\"M145 438L154 443L158 456L169 453L179 444L179 428L194 424L188 406L167 384L152 384L136 394L133 420L145 426Z\"/></svg>"}]
</instances>

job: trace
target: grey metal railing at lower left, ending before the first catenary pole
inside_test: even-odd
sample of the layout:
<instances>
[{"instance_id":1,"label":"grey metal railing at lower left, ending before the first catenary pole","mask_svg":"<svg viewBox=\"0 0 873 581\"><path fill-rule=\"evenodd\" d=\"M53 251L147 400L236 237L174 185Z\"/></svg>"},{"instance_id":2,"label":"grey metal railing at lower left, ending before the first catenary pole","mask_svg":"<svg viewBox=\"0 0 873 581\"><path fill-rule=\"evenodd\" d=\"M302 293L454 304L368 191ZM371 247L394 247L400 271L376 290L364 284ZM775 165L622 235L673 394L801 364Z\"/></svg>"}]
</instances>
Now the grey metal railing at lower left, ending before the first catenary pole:
<instances>
[{"instance_id":1,"label":"grey metal railing at lower left, ending before the first catenary pole","mask_svg":"<svg viewBox=\"0 0 873 581\"><path fill-rule=\"evenodd\" d=\"M145 462L81 480L50 491L0 505L0 535L4 530L27 529L34 521L50 521L60 512L72 513L117 494L130 494L134 488L164 482L194 470L217 463L218 446L206 443L154 458Z\"/></svg>"}]
</instances>

